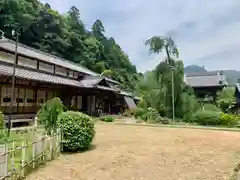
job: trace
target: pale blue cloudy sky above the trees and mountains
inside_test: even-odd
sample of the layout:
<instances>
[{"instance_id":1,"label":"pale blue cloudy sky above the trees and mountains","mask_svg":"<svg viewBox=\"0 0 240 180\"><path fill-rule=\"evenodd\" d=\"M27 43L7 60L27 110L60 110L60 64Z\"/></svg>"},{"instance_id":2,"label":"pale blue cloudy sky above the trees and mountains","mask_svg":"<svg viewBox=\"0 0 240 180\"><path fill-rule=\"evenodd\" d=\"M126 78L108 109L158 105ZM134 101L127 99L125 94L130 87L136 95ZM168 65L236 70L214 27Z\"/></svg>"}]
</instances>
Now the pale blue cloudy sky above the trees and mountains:
<instances>
[{"instance_id":1,"label":"pale blue cloudy sky above the trees and mountains","mask_svg":"<svg viewBox=\"0 0 240 180\"><path fill-rule=\"evenodd\" d=\"M149 54L144 42L152 36L171 36L185 66L240 70L239 0L41 1L61 13L76 6L87 28L100 19L105 35L115 38L141 72L164 57Z\"/></svg>"}]
</instances>

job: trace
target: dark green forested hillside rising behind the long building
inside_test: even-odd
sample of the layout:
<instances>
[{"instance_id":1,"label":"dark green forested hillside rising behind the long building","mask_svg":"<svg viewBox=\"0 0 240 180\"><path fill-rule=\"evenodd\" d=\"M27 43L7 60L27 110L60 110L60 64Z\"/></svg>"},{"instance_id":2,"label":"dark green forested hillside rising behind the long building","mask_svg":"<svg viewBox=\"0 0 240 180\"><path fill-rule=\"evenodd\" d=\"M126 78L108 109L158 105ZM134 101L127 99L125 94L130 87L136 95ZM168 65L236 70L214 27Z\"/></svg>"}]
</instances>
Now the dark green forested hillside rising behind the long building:
<instances>
[{"instance_id":1,"label":"dark green forested hillside rising behind the long building","mask_svg":"<svg viewBox=\"0 0 240 180\"><path fill-rule=\"evenodd\" d=\"M87 30L80 14L74 6L60 14L38 0L0 0L0 30L10 39L12 30L18 30L21 43L103 73L124 89L134 90L136 67L114 38L104 35L101 20Z\"/></svg>"}]
</instances>

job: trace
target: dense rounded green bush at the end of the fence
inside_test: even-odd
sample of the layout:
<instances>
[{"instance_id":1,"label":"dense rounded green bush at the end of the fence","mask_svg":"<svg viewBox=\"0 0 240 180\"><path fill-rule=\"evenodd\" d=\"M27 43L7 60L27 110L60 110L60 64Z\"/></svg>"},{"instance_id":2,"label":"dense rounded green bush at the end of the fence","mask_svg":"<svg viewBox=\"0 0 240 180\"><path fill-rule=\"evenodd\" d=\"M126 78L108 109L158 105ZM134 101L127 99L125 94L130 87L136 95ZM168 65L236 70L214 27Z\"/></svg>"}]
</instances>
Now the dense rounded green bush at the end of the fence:
<instances>
[{"instance_id":1,"label":"dense rounded green bush at the end of the fence","mask_svg":"<svg viewBox=\"0 0 240 180\"><path fill-rule=\"evenodd\" d=\"M90 116L75 111L62 112L58 117L63 133L64 151L87 150L95 135L94 123Z\"/></svg>"}]
</instances>

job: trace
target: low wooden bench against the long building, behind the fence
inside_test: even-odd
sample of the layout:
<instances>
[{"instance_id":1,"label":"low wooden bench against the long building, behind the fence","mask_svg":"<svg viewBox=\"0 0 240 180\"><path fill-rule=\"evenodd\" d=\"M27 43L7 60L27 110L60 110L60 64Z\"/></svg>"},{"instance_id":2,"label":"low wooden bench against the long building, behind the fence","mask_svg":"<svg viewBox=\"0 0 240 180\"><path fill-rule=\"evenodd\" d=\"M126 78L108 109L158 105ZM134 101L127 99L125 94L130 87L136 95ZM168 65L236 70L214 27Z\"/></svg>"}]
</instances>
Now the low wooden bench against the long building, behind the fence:
<instances>
[{"instance_id":1,"label":"low wooden bench against the long building, behind the fence","mask_svg":"<svg viewBox=\"0 0 240 180\"><path fill-rule=\"evenodd\" d=\"M32 123L35 120L36 114L13 114L11 117L11 128L14 123ZM9 115L4 115L4 122L8 127Z\"/></svg>"}]
</instances>

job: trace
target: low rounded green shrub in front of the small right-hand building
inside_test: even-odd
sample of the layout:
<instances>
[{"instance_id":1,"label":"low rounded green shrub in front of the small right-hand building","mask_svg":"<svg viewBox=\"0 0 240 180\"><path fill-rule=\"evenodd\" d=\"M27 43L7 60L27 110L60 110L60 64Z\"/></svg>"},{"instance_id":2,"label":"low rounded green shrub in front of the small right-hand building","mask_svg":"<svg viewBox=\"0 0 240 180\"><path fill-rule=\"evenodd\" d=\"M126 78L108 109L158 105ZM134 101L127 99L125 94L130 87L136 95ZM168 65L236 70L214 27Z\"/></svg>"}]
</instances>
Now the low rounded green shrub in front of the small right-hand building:
<instances>
[{"instance_id":1,"label":"low rounded green shrub in front of the small right-hand building","mask_svg":"<svg viewBox=\"0 0 240 180\"><path fill-rule=\"evenodd\" d=\"M218 125L220 123L220 112L198 111L194 114L194 121L200 125Z\"/></svg>"}]
</instances>

